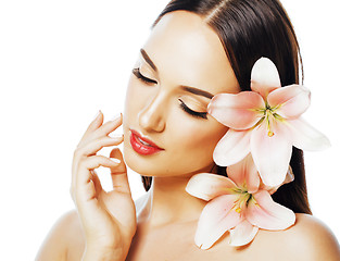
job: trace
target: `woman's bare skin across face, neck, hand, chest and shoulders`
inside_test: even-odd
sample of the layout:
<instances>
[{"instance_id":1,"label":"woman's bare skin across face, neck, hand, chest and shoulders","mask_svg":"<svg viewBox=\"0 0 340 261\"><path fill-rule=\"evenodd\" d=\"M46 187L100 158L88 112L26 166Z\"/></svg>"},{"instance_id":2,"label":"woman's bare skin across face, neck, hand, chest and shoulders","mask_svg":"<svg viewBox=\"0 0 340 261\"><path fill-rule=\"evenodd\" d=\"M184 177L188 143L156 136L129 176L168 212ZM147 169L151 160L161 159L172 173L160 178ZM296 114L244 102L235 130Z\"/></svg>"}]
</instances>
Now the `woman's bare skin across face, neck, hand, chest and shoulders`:
<instances>
[{"instance_id":1,"label":"woman's bare skin across face, neck, hand, chest and shoulders","mask_svg":"<svg viewBox=\"0 0 340 261\"><path fill-rule=\"evenodd\" d=\"M129 80L124 158L137 173L153 176L151 189L134 203L121 151L114 148L110 154L121 163L97 153L123 141L109 137L122 117L103 123L99 113L74 153L71 192L76 211L59 220L37 260L340 260L335 236L306 214L297 214L297 224L289 229L260 231L247 247L230 247L227 233L209 250L194 245L205 201L191 197L185 187L193 174L214 172L212 153L227 128L210 115L200 119L184 111L180 102L204 112L209 99L180 85L216 95L238 92L238 83L218 37L196 14L166 14L143 50L158 71L142 57L136 63L153 82L147 84L135 75ZM130 128L164 150L138 154L129 144ZM95 172L99 166L111 170L113 191L102 190Z\"/></svg>"}]
</instances>

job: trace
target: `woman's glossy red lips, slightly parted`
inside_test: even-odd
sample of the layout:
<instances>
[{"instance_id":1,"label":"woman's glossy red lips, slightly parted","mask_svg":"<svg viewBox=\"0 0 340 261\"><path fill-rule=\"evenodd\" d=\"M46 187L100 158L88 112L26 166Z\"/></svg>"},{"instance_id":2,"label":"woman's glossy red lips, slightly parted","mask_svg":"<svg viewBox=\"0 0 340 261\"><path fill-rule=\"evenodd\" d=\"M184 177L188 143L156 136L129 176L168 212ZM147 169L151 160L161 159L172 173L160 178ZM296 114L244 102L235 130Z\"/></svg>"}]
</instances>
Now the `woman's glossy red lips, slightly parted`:
<instances>
[{"instance_id":1,"label":"woman's glossy red lips, slightly parted","mask_svg":"<svg viewBox=\"0 0 340 261\"><path fill-rule=\"evenodd\" d=\"M147 139L144 137L141 137L139 133L137 133L134 129L130 129L131 135L130 135L130 144L133 149L143 156L149 156L156 153L159 151L162 151L164 149L160 148L156 146L154 142L152 142L150 139Z\"/></svg>"}]
</instances>

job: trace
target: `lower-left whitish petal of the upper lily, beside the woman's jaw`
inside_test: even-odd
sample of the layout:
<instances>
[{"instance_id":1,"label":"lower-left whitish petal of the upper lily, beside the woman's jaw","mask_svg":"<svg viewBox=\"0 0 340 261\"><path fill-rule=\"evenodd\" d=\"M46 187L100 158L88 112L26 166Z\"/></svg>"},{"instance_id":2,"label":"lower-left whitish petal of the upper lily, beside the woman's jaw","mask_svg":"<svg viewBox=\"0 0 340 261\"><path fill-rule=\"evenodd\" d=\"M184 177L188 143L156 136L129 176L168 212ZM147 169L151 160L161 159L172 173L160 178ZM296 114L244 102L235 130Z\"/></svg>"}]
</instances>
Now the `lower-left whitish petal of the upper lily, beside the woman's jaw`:
<instances>
[{"instance_id":1,"label":"lower-left whitish petal of the upper lily, beside the woman's jaw","mask_svg":"<svg viewBox=\"0 0 340 261\"><path fill-rule=\"evenodd\" d=\"M215 147L213 159L217 165L232 165L250 152L250 130L229 130Z\"/></svg>"}]
</instances>

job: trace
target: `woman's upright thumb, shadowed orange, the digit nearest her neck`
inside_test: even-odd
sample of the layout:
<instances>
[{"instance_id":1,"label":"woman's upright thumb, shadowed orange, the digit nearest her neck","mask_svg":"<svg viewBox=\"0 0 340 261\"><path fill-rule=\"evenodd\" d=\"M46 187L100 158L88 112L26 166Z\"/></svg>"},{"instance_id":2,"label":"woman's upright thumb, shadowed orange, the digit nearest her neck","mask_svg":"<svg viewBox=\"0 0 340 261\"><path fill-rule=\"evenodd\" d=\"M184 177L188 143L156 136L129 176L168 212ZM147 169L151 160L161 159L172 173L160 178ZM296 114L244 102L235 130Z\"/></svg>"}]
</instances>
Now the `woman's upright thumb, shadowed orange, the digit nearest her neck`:
<instances>
[{"instance_id":1,"label":"woman's upright thumb, shadowed orange, the digit nearest her neck","mask_svg":"<svg viewBox=\"0 0 340 261\"><path fill-rule=\"evenodd\" d=\"M131 194L126 173L126 165L121 150L118 148L114 148L110 153L110 158L121 160L121 163L117 166L111 167L113 189Z\"/></svg>"}]
</instances>

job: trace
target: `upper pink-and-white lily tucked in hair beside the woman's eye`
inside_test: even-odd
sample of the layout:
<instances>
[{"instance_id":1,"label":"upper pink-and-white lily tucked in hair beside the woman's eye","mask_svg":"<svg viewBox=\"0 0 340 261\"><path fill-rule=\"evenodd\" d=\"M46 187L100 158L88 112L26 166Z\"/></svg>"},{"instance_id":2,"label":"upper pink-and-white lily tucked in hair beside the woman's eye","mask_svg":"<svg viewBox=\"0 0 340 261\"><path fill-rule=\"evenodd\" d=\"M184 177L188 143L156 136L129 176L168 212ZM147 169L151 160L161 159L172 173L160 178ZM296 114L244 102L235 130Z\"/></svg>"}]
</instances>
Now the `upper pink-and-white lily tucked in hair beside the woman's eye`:
<instances>
[{"instance_id":1,"label":"upper pink-and-white lily tucked in hair beside the woman's eye","mask_svg":"<svg viewBox=\"0 0 340 261\"><path fill-rule=\"evenodd\" d=\"M301 119L310 107L304 86L281 87L278 71L261 58L251 72L252 91L216 95L207 112L229 127L214 150L214 161L232 165L251 152L264 184L277 186L285 179L292 146L320 150L330 146L322 133Z\"/></svg>"}]
</instances>

